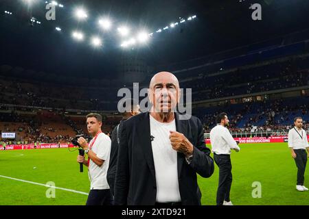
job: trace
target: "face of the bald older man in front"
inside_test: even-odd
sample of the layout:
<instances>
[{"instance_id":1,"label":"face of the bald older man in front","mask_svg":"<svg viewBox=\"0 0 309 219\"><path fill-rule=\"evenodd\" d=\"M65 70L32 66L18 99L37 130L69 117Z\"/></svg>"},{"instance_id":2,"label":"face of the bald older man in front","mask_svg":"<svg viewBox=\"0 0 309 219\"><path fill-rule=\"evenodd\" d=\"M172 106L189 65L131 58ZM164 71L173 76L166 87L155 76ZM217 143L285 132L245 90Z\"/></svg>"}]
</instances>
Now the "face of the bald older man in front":
<instances>
[{"instance_id":1,"label":"face of the bald older man in front","mask_svg":"<svg viewBox=\"0 0 309 219\"><path fill-rule=\"evenodd\" d=\"M156 77L148 93L155 112L172 112L179 103L179 83L172 75Z\"/></svg>"}]
</instances>

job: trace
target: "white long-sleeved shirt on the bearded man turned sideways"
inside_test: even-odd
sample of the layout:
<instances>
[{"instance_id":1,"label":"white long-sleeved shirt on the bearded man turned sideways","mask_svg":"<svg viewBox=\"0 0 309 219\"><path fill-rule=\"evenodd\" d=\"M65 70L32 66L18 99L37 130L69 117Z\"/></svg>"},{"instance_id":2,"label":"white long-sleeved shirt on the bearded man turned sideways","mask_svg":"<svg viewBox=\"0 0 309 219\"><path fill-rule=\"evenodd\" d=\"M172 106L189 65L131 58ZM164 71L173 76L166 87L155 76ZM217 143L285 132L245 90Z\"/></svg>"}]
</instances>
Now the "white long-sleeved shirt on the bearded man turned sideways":
<instances>
[{"instance_id":1,"label":"white long-sleeved shirt on the bearded man turned sideways","mask_svg":"<svg viewBox=\"0 0 309 219\"><path fill-rule=\"evenodd\" d=\"M218 124L210 131L211 151L217 155L230 155L231 149L240 150L229 129Z\"/></svg>"}]
</instances>

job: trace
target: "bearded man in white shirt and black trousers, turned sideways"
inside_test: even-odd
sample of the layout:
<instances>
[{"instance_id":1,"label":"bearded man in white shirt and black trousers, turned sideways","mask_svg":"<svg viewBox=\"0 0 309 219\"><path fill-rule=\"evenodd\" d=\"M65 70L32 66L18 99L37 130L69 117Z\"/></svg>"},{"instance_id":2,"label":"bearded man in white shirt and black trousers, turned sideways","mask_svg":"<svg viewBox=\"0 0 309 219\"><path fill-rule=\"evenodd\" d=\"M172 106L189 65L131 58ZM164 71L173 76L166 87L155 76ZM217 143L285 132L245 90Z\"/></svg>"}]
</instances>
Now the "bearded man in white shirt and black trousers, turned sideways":
<instances>
[{"instance_id":1,"label":"bearded man in white shirt and black trousers, turned sideways","mask_svg":"<svg viewBox=\"0 0 309 219\"><path fill-rule=\"evenodd\" d=\"M214 153L214 161L219 167L219 185L217 191L217 205L233 205L229 199L231 190L231 149L240 151L238 143L233 139L229 129L227 114L222 112L216 118L216 127L210 131L211 151Z\"/></svg>"}]
</instances>

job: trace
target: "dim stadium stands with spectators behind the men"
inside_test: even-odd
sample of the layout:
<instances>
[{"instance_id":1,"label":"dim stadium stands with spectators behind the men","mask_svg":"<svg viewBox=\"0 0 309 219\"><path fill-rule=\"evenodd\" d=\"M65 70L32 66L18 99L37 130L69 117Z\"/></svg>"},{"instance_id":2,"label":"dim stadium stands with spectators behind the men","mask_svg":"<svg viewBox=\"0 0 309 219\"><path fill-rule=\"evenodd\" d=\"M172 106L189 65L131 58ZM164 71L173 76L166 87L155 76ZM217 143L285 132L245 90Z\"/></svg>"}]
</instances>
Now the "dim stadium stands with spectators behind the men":
<instances>
[{"instance_id":1,"label":"dim stadium stands with spectators behind the men","mask_svg":"<svg viewBox=\"0 0 309 219\"><path fill-rule=\"evenodd\" d=\"M192 88L193 114L201 118L205 132L216 125L218 112L229 114L231 131L287 130L295 116L309 120L309 43L300 37L306 34L309 31L157 71L172 70L181 88ZM117 91L132 89L115 81L87 88L53 77L25 79L23 71L0 66L0 129L18 133L16 140L23 142L67 142L76 134L87 135L84 116L89 112L100 112L102 130L111 132L121 118ZM147 75L140 88L146 88L151 77ZM304 125L308 130L308 123Z\"/></svg>"}]
</instances>

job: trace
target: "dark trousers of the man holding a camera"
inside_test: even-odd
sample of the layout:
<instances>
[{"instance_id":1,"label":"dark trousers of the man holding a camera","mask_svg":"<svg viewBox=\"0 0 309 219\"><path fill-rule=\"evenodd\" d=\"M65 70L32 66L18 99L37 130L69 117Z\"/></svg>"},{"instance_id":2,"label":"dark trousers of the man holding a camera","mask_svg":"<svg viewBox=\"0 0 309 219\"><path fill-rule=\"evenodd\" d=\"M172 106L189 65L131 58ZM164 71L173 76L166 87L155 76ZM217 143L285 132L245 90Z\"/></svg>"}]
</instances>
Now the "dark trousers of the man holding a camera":
<instances>
[{"instance_id":1,"label":"dark trousers of the man holding a camera","mask_svg":"<svg viewBox=\"0 0 309 219\"><path fill-rule=\"evenodd\" d=\"M90 190L86 205L113 205L110 190Z\"/></svg>"}]
</instances>

